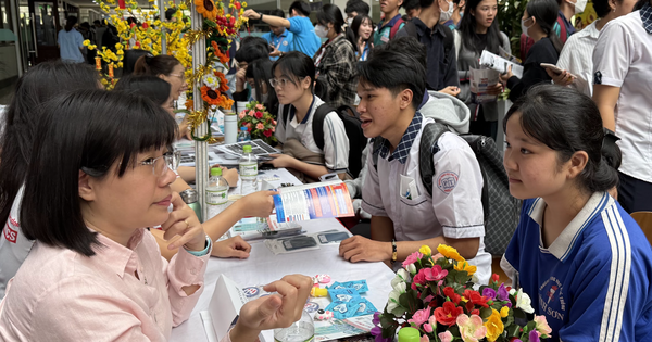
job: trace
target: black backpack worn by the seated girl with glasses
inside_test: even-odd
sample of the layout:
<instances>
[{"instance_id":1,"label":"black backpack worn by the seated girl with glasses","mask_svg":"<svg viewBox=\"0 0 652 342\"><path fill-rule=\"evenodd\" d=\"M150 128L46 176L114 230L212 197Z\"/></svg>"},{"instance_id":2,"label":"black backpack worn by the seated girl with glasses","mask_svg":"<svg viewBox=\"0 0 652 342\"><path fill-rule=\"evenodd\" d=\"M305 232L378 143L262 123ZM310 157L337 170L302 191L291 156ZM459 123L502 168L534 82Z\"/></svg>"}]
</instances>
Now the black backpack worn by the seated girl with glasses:
<instances>
[{"instance_id":1,"label":"black backpack worn by the seated girl with glasses","mask_svg":"<svg viewBox=\"0 0 652 342\"><path fill-rule=\"evenodd\" d=\"M291 105L288 104L283 109L283 116L278 121L279 123L283 123L283 125L286 125L286 121L289 117L290 106ZM315 116L313 117L312 123L313 137L315 138L315 143L319 150L324 150L324 119L330 112L337 113L344 123L344 130L349 138L348 173L351 177L356 178L362 169L362 151L367 144L367 138L364 136L361 127L362 121L360 121L360 115L355 109L350 105L340 105L337 110L326 103L319 105L315 110Z\"/></svg>"}]
</instances>

